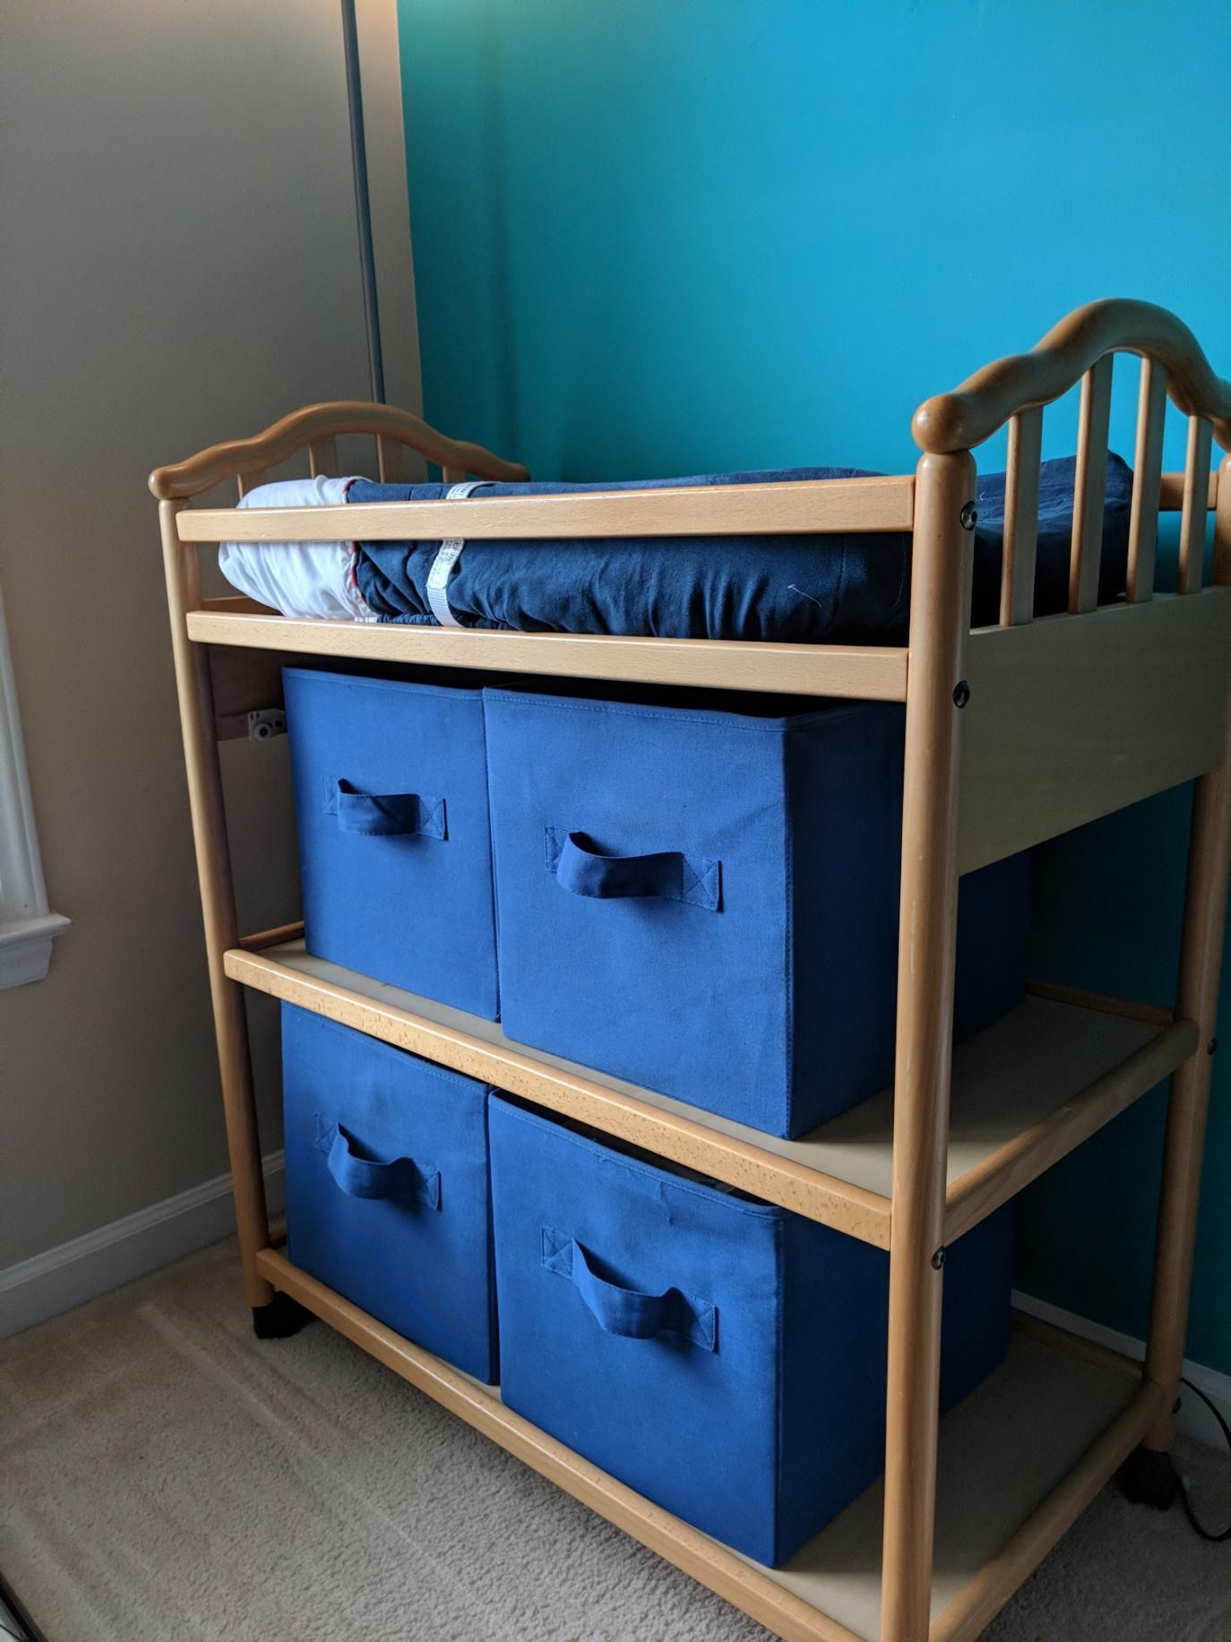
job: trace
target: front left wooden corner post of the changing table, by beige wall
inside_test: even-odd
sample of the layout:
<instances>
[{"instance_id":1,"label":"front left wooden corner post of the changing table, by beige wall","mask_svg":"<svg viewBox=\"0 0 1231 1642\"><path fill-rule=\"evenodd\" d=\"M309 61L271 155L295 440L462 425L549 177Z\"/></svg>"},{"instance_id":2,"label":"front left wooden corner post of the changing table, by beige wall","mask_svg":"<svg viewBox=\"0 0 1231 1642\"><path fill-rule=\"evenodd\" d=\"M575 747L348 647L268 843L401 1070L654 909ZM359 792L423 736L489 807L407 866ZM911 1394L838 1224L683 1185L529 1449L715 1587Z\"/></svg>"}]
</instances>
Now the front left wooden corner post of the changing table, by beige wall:
<instances>
[{"instance_id":1,"label":"front left wooden corner post of the changing table, by beige wall","mask_svg":"<svg viewBox=\"0 0 1231 1642\"><path fill-rule=\"evenodd\" d=\"M269 1305L274 1299L272 1284L256 1269L258 1253L269 1245L269 1217L261 1174L261 1146L256 1135L256 1102L253 1098L243 987L228 980L223 970L223 952L238 944L235 885L227 844L218 744L213 729L208 654L204 645L190 642L185 624L187 612L200 604L197 548L179 540L176 524L185 506L184 501L162 501L158 506L158 516L162 529L171 647L176 658L179 722L184 732L192 837L197 847L200 906L205 920L205 954L210 970L213 1026L218 1038L218 1072L227 1117L227 1146L231 1159L240 1258L243 1261L245 1294L248 1304L256 1309Z\"/></svg>"}]
</instances>

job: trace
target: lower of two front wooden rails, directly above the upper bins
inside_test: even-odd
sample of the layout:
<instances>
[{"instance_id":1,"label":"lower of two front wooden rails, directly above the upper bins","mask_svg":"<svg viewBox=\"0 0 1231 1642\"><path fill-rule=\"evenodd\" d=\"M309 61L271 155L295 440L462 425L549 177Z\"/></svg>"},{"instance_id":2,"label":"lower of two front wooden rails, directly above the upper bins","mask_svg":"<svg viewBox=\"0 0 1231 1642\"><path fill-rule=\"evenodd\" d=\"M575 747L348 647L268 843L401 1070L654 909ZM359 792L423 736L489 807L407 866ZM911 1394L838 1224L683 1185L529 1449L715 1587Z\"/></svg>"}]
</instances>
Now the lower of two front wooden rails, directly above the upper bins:
<instances>
[{"instance_id":1,"label":"lower of two front wooden rails, directly above the upper bins","mask_svg":"<svg viewBox=\"0 0 1231 1642\"><path fill-rule=\"evenodd\" d=\"M233 609L194 609L185 622L194 644L336 655L351 662L414 662L478 672L635 680L857 701L906 699L908 652L875 645L501 632L259 616Z\"/></svg>"}]
</instances>

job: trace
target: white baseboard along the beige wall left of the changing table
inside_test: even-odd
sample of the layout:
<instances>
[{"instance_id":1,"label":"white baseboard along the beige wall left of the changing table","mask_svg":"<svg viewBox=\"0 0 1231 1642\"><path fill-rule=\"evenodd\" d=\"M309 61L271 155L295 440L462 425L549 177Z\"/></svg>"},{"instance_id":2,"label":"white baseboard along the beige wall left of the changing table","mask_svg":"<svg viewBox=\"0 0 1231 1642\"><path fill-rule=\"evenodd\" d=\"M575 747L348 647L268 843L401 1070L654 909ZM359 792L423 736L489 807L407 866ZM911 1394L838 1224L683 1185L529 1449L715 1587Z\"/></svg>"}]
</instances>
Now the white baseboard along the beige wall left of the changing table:
<instances>
[{"instance_id":1,"label":"white baseboard along the beige wall left of the changing table","mask_svg":"<svg viewBox=\"0 0 1231 1642\"><path fill-rule=\"evenodd\" d=\"M284 1204L284 1158L263 1158L271 1213ZM0 1271L0 1338L169 1266L235 1230L231 1177L220 1174L135 1215Z\"/></svg>"}]
</instances>

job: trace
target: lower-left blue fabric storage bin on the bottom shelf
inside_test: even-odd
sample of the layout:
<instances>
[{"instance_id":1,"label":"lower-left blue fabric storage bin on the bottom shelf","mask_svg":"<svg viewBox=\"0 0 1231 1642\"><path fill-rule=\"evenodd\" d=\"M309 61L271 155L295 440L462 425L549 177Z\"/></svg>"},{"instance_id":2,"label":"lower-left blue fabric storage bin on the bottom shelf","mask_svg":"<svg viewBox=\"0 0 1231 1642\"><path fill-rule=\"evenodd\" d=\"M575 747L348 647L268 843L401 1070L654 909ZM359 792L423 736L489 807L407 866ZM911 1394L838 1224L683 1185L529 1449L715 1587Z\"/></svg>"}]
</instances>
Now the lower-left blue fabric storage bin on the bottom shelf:
<instances>
[{"instance_id":1,"label":"lower-left blue fabric storage bin on the bottom shelf","mask_svg":"<svg viewBox=\"0 0 1231 1642\"><path fill-rule=\"evenodd\" d=\"M282 1005L287 1258L494 1381L486 1084Z\"/></svg>"}]
</instances>

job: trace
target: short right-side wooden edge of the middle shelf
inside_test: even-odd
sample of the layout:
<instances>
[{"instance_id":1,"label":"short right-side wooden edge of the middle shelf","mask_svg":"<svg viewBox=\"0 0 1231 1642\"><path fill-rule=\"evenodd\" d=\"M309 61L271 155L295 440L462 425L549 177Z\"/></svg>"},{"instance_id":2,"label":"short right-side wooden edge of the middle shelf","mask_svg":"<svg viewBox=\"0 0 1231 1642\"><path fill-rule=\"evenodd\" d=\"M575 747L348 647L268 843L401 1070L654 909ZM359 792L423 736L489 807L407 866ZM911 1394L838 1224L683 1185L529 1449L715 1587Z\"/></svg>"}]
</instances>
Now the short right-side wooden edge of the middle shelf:
<instances>
[{"instance_id":1,"label":"short right-side wooden edge of the middle shelf","mask_svg":"<svg viewBox=\"0 0 1231 1642\"><path fill-rule=\"evenodd\" d=\"M1119 1117L1144 1094L1169 1077L1200 1043L1195 1021L1172 1021L1103 1077L1039 1123L1023 1130L973 1169L954 1181L945 1194L944 1240L954 1243L993 1210L1016 1197L1031 1181L1065 1158L1082 1141Z\"/></svg>"}]
</instances>

